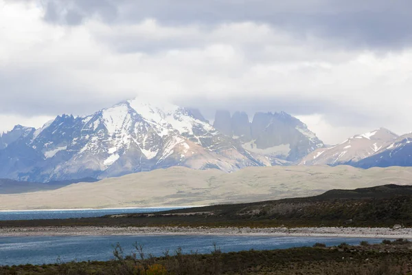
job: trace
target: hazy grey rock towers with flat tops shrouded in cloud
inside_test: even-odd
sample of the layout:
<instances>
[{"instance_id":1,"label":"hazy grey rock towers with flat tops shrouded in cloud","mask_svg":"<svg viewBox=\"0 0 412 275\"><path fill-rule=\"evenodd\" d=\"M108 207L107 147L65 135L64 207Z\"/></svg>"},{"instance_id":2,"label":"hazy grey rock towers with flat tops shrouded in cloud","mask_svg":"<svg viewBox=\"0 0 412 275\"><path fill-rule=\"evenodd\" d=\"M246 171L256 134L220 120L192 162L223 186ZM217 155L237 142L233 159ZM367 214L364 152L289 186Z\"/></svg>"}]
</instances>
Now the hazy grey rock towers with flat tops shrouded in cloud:
<instances>
[{"instance_id":1,"label":"hazy grey rock towers with flat tops shrouded in cloud","mask_svg":"<svg viewBox=\"0 0 412 275\"><path fill-rule=\"evenodd\" d=\"M241 142L249 152L264 155L271 164L295 162L324 146L306 124L288 113L255 113L249 122L247 113L216 112L214 127Z\"/></svg>"}]
</instances>

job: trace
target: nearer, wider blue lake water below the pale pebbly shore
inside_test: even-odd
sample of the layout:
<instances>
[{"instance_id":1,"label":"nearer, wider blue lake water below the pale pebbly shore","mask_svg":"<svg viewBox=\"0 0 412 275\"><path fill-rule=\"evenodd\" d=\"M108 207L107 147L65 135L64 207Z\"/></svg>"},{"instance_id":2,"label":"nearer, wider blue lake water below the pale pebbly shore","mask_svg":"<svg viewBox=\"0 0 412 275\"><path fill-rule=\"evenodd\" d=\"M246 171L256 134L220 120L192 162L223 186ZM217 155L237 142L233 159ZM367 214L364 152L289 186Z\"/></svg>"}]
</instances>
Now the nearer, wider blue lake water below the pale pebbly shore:
<instances>
[{"instance_id":1,"label":"nearer, wider blue lake water below the pale pebbly shore","mask_svg":"<svg viewBox=\"0 0 412 275\"><path fill-rule=\"evenodd\" d=\"M241 250L274 250L314 243L339 245L346 242L357 245L365 239L290 237L290 236L24 236L0 237L0 265L56 263L60 261L106 261L113 259L113 245L122 245L125 254L133 252L133 243L144 245L146 254L171 254L181 247L184 253L210 253L213 243L222 252ZM367 239L380 243L382 239Z\"/></svg>"}]
</instances>

